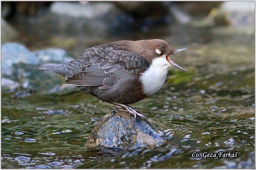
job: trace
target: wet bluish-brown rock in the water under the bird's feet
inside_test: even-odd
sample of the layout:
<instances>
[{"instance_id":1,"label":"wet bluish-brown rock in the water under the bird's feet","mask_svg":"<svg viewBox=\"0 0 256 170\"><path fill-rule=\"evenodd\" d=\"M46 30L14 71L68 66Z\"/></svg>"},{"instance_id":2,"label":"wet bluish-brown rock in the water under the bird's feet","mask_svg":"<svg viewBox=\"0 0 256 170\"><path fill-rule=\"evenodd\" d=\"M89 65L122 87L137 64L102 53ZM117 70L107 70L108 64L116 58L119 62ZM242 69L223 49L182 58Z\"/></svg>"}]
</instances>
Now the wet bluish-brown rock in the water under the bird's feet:
<instances>
[{"instance_id":1,"label":"wet bluish-brown rock in the water under the bird's feet","mask_svg":"<svg viewBox=\"0 0 256 170\"><path fill-rule=\"evenodd\" d=\"M145 146L158 146L171 140L154 125L125 111L114 110L103 117L93 128L87 147L111 147L135 149Z\"/></svg>"}]
</instances>

